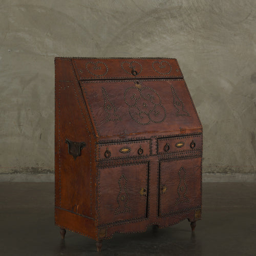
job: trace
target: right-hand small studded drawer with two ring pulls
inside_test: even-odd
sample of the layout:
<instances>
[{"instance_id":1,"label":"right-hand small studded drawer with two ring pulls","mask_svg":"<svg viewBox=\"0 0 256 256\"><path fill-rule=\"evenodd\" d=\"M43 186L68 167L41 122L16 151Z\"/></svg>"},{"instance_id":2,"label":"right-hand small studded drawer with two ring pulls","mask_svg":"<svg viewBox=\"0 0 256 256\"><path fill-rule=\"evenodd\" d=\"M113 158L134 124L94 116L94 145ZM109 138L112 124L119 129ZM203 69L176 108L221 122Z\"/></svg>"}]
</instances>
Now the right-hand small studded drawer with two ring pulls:
<instances>
[{"instance_id":1,"label":"right-hand small studded drawer with two ring pulls","mask_svg":"<svg viewBox=\"0 0 256 256\"><path fill-rule=\"evenodd\" d=\"M179 136L157 139L157 153L169 154L202 150L202 135Z\"/></svg>"}]
</instances>

